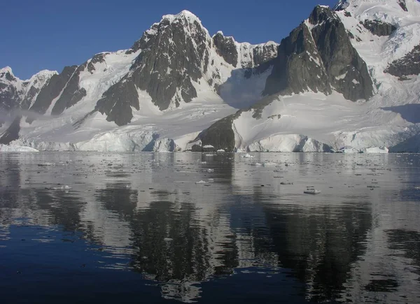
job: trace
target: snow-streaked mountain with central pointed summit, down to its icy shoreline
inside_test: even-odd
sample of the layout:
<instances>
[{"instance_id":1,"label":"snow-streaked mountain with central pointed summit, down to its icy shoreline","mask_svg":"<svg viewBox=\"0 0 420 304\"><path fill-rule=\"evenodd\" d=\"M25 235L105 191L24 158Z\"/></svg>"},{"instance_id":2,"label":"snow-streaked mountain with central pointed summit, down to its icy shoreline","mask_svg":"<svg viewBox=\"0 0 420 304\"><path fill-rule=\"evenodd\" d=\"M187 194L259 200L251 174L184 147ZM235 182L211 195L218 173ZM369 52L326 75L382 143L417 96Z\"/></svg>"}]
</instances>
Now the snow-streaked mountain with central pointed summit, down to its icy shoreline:
<instances>
[{"instance_id":1,"label":"snow-streaked mountain with central pointed summit, down to its icy shoreline","mask_svg":"<svg viewBox=\"0 0 420 304\"><path fill-rule=\"evenodd\" d=\"M39 150L184 150L261 98L276 56L274 42L233 41L239 61L230 63L230 38L220 36L186 10L165 15L129 50L64 68L31 105L43 116L24 117L3 138L18 132L17 143Z\"/></svg>"}]
</instances>

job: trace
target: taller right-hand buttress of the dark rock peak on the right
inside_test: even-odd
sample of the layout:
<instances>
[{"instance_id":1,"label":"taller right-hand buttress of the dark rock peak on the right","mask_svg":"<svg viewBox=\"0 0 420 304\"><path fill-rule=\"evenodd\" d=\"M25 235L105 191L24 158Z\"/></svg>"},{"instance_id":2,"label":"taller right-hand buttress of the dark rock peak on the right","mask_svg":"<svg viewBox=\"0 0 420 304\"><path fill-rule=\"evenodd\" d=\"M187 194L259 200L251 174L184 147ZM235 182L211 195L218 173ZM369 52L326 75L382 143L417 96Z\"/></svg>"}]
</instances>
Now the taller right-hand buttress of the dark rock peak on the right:
<instances>
[{"instance_id":1,"label":"taller right-hand buttress of the dark rock peak on the right","mask_svg":"<svg viewBox=\"0 0 420 304\"><path fill-rule=\"evenodd\" d=\"M312 36L332 87L351 101L372 97L373 83L367 65L351 45L339 17L329 8L316 6L309 22L316 25Z\"/></svg>"}]
</instances>

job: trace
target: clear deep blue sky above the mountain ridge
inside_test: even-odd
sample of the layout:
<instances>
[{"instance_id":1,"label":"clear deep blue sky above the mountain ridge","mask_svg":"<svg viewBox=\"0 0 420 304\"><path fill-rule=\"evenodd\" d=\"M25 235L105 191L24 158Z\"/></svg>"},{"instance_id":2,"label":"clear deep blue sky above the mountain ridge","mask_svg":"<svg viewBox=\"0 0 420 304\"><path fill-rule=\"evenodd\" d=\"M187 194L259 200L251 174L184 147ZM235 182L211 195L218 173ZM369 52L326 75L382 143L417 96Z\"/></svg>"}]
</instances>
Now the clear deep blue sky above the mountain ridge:
<instances>
[{"instance_id":1,"label":"clear deep blue sky above the mountain ridge","mask_svg":"<svg viewBox=\"0 0 420 304\"><path fill-rule=\"evenodd\" d=\"M162 15L195 13L210 34L280 42L316 4L338 0L3 0L0 67L27 79L83 64L97 52L130 48Z\"/></svg>"}]
</instances>

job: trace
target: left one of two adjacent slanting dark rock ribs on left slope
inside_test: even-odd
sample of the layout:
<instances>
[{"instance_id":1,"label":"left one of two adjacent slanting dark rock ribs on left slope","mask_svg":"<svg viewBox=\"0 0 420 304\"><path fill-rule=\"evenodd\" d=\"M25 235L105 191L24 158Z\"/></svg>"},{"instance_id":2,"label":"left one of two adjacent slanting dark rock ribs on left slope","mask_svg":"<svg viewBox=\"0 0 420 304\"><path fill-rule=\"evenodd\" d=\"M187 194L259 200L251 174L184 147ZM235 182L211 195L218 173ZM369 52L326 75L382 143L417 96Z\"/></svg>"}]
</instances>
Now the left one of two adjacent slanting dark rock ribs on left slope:
<instances>
[{"instance_id":1,"label":"left one of two adjacent slanting dark rock ribs on left slope","mask_svg":"<svg viewBox=\"0 0 420 304\"><path fill-rule=\"evenodd\" d=\"M77 68L78 66L66 66L62 73L53 75L48 84L41 89L41 92L36 97L36 101L29 110L38 114L45 114L52 100L59 96ZM28 122L31 122L31 120L28 120Z\"/></svg>"}]
</instances>

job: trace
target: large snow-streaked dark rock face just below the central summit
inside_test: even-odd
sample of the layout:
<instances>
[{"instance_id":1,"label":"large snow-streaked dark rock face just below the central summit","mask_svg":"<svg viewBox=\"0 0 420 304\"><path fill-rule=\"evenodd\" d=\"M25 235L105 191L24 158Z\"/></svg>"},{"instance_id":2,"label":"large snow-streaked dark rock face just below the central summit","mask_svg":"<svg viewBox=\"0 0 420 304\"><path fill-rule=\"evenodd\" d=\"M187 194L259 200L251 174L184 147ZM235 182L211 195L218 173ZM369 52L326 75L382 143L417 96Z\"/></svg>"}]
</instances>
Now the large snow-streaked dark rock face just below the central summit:
<instances>
[{"instance_id":1,"label":"large snow-streaked dark rock face just below the central summit","mask_svg":"<svg viewBox=\"0 0 420 304\"><path fill-rule=\"evenodd\" d=\"M156 34L144 41L132 66L132 79L160 110L166 110L172 99L189 102L197 97L192 81L202 77L202 65L207 71L209 41L202 25L186 15L179 22L164 19L153 27Z\"/></svg>"}]
</instances>

